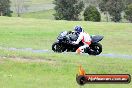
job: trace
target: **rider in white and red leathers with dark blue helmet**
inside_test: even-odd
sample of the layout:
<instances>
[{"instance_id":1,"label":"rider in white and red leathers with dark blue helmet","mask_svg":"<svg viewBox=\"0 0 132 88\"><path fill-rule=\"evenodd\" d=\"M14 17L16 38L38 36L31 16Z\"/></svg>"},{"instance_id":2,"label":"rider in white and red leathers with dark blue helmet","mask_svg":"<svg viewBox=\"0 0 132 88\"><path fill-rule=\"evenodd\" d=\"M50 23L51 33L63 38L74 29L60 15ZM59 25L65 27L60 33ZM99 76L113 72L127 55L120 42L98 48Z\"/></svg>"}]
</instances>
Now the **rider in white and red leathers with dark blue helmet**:
<instances>
[{"instance_id":1,"label":"rider in white and red leathers with dark blue helmet","mask_svg":"<svg viewBox=\"0 0 132 88\"><path fill-rule=\"evenodd\" d=\"M80 46L77 50L76 53L77 54L81 54L84 52L84 49L89 47L89 45L91 44L91 37L88 33L85 33L84 30L82 29L81 26L76 26L74 28L74 31L77 32L79 34L79 37L76 41L73 41L73 44L79 44L80 41L82 41L84 43L83 46Z\"/></svg>"}]
</instances>

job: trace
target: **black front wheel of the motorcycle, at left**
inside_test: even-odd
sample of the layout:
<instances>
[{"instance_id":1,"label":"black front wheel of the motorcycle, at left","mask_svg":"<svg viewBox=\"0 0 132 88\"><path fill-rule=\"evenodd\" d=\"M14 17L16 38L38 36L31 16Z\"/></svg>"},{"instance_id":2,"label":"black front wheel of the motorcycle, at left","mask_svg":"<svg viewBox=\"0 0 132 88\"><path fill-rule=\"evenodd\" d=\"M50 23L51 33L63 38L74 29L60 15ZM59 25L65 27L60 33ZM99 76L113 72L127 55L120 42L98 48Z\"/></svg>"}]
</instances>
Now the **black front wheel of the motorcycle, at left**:
<instances>
[{"instance_id":1,"label":"black front wheel of the motorcycle, at left","mask_svg":"<svg viewBox=\"0 0 132 88\"><path fill-rule=\"evenodd\" d=\"M55 42L55 43L52 44L52 50L54 52L61 53L61 52L64 52L66 49L62 44L60 44L58 42Z\"/></svg>"}]
</instances>

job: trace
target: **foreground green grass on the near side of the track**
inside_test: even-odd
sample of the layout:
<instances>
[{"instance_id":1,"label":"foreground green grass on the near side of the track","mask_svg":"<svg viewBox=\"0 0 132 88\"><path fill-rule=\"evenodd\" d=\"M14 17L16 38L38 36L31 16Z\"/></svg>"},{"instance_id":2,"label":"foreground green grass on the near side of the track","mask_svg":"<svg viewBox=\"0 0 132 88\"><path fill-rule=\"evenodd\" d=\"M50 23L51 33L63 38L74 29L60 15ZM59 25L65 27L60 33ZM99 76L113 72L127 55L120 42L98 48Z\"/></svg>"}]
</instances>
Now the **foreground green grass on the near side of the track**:
<instances>
[{"instance_id":1,"label":"foreground green grass on the near side of the track","mask_svg":"<svg viewBox=\"0 0 132 88\"><path fill-rule=\"evenodd\" d=\"M15 52L16 53L16 52ZM20 53L20 52L19 52ZM21 52L23 53L23 52ZM92 57L71 54L29 54L36 59L50 58L48 62L12 61L8 57L1 60L0 85L3 88L78 88L75 77L82 64L89 74L132 74L130 59ZM15 59L15 58L14 58ZM50 63L50 61L54 61ZM96 63L96 64L95 64ZM118 67L118 68L117 68ZM7 85L8 84L8 85ZM90 84L85 88L130 88L132 84Z\"/></svg>"}]
</instances>

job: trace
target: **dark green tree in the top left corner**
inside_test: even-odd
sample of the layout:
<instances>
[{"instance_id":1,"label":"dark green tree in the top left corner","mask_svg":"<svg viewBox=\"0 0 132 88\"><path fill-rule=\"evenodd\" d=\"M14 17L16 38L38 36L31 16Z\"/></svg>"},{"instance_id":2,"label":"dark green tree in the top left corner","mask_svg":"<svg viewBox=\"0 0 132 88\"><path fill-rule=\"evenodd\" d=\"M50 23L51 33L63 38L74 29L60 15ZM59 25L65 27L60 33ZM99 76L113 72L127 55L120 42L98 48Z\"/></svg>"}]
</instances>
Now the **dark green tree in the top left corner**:
<instances>
[{"instance_id":1,"label":"dark green tree in the top left corner","mask_svg":"<svg viewBox=\"0 0 132 88\"><path fill-rule=\"evenodd\" d=\"M0 0L0 16L11 16L10 0Z\"/></svg>"}]
</instances>

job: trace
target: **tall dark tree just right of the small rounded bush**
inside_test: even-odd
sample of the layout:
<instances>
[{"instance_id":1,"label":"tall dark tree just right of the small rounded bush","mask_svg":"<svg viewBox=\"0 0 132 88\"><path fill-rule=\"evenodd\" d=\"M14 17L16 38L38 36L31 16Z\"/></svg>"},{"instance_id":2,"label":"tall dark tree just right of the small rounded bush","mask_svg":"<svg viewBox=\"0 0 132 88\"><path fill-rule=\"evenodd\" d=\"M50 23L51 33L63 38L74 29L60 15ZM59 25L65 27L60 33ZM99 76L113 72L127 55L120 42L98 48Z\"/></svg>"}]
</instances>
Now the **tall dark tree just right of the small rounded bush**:
<instances>
[{"instance_id":1,"label":"tall dark tree just right of the small rounded bush","mask_svg":"<svg viewBox=\"0 0 132 88\"><path fill-rule=\"evenodd\" d=\"M112 21L119 22L121 20L121 12L124 10L124 4L123 0L102 0L99 8L102 12L108 12L112 17Z\"/></svg>"}]
</instances>

